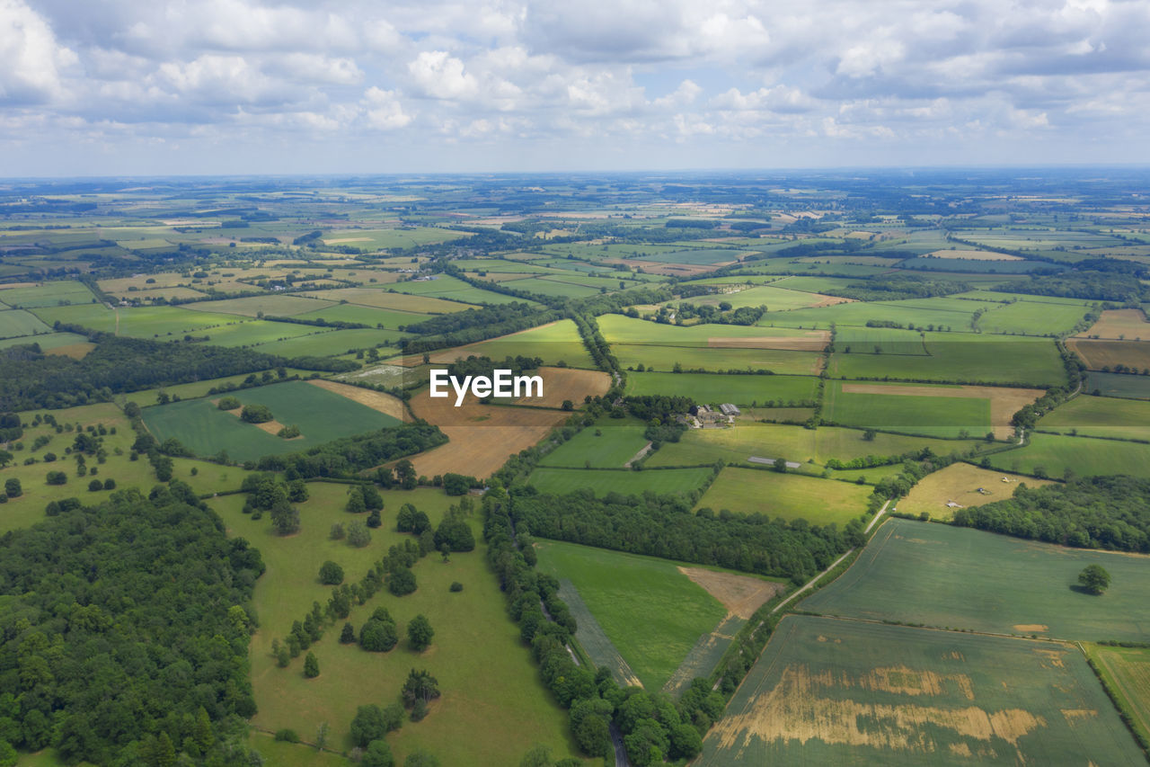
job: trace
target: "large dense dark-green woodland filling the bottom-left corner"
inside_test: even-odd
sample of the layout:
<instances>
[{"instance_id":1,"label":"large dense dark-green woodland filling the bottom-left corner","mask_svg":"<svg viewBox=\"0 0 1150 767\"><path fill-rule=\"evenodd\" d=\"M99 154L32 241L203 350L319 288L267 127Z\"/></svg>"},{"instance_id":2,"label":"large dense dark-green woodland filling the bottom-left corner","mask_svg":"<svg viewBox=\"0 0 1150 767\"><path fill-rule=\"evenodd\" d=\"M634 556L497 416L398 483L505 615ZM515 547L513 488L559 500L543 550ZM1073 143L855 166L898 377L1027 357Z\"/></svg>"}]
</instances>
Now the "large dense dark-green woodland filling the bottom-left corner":
<instances>
[{"instance_id":1,"label":"large dense dark-green woodland filling the bottom-left corner","mask_svg":"<svg viewBox=\"0 0 1150 767\"><path fill-rule=\"evenodd\" d=\"M174 481L0 538L0 738L68 764L247 765L260 553Z\"/></svg>"}]
</instances>

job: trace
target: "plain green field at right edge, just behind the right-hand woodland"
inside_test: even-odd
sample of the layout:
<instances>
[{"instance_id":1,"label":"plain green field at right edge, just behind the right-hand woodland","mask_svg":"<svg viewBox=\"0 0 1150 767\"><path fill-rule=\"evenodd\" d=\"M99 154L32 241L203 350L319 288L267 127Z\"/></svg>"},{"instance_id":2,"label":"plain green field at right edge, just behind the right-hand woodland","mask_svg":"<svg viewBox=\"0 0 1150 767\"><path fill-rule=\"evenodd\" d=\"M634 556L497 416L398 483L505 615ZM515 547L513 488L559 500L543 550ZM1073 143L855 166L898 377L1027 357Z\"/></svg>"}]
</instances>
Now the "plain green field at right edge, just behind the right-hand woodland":
<instances>
[{"instance_id":1,"label":"plain green field at right edge, just behind the right-hand woodland","mask_svg":"<svg viewBox=\"0 0 1150 767\"><path fill-rule=\"evenodd\" d=\"M1028 474L1076 477L1130 474L1150 477L1150 445L1089 436L1030 434L1028 445L990 456L995 469Z\"/></svg>"}]
</instances>

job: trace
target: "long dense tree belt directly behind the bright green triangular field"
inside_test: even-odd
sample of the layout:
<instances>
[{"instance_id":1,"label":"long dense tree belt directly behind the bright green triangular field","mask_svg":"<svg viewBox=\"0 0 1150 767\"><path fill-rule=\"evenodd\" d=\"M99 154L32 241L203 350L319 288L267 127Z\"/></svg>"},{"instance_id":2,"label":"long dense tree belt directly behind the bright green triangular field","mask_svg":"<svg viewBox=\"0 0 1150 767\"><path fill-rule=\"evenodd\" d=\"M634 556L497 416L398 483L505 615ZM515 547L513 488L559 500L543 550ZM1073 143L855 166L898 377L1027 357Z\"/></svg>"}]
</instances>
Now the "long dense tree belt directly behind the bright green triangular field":
<instances>
[{"instance_id":1,"label":"long dense tree belt directly behind the bright green triangular field","mask_svg":"<svg viewBox=\"0 0 1150 767\"><path fill-rule=\"evenodd\" d=\"M590 489L569 495L536 495L515 488L512 517L539 538L566 540L668 560L782 576L804 583L851 546L861 542L857 522L839 531L805 521L762 515L692 514L674 495L595 498Z\"/></svg>"}]
</instances>

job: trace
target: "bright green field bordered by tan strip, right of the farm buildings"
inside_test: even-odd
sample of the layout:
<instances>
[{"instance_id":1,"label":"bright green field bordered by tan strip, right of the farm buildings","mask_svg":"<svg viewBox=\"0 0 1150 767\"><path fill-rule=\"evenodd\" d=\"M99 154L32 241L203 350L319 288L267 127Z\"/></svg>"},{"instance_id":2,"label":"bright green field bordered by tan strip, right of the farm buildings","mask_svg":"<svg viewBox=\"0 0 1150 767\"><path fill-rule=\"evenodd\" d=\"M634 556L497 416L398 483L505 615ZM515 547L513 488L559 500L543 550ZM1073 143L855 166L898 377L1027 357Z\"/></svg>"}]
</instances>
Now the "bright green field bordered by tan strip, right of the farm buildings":
<instances>
[{"instance_id":1,"label":"bright green field bordered by tan strip, right of the farm buildings","mask_svg":"<svg viewBox=\"0 0 1150 767\"><path fill-rule=\"evenodd\" d=\"M844 426L882 428L928 436L986 434L991 428L990 400L975 397L858 394L829 381L823 418Z\"/></svg>"}]
</instances>

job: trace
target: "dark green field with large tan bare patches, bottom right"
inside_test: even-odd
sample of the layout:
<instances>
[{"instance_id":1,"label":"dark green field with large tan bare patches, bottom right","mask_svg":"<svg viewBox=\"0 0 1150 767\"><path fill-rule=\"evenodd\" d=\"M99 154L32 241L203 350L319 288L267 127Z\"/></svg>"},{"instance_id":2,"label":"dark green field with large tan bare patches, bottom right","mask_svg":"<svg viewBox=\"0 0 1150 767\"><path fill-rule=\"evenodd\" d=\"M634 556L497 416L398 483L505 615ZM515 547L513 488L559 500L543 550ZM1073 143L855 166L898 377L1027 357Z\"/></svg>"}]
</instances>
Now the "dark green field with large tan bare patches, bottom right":
<instances>
[{"instance_id":1,"label":"dark green field with large tan bare patches, bottom right","mask_svg":"<svg viewBox=\"0 0 1150 767\"><path fill-rule=\"evenodd\" d=\"M1141 765L1073 646L783 618L699 765Z\"/></svg>"}]
</instances>

